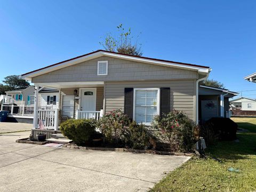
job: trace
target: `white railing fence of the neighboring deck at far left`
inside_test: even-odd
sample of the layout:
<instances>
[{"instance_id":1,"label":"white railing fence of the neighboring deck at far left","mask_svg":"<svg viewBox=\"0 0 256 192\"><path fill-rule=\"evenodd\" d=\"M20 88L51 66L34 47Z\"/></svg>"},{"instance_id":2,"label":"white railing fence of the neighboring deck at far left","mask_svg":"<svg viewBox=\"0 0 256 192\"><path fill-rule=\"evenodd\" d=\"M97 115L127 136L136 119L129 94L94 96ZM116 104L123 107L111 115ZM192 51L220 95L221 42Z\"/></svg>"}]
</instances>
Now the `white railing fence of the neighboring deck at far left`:
<instances>
[{"instance_id":1,"label":"white railing fence of the neighboring deck at far left","mask_svg":"<svg viewBox=\"0 0 256 192\"><path fill-rule=\"evenodd\" d=\"M34 106L1 105L1 110L7 110L11 115L33 115L34 114Z\"/></svg>"}]
</instances>

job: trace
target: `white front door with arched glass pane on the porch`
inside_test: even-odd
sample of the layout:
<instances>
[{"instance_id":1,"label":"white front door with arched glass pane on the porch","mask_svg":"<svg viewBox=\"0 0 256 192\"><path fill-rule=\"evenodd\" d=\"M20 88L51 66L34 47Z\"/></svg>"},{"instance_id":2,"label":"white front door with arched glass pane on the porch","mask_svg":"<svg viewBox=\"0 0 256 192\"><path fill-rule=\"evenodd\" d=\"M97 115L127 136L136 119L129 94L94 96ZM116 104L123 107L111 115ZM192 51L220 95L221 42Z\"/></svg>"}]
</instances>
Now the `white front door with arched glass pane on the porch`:
<instances>
[{"instance_id":1,"label":"white front door with arched glass pane on the porch","mask_svg":"<svg viewBox=\"0 0 256 192\"><path fill-rule=\"evenodd\" d=\"M81 90L81 110L95 111L96 110L96 89L88 88Z\"/></svg>"}]
</instances>

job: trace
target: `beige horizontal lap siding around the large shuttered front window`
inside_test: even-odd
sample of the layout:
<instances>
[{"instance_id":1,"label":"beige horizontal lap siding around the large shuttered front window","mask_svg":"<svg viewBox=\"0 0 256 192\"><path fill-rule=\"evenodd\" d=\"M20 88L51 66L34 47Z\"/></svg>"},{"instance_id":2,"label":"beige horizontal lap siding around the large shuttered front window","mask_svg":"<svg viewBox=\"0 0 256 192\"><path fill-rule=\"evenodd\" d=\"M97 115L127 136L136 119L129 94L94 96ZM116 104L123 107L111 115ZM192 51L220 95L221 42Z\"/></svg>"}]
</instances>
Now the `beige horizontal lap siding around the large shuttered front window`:
<instances>
[{"instance_id":1,"label":"beige horizontal lap siding around the large shuttered front window","mask_svg":"<svg viewBox=\"0 0 256 192\"><path fill-rule=\"evenodd\" d=\"M170 87L171 110L183 111L195 120L195 80L106 82L106 111L124 110L124 88Z\"/></svg>"}]
</instances>

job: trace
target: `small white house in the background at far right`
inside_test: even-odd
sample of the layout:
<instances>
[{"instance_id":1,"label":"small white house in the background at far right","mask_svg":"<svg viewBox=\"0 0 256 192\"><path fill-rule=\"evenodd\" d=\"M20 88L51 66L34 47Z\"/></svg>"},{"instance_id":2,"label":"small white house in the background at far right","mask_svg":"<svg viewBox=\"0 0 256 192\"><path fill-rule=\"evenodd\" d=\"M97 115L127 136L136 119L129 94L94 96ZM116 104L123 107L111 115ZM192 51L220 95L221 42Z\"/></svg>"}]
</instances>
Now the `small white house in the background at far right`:
<instances>
[{"instance_id":1,"label":"small white house in the background at far right","mask_svg":"<svg viewBox=\"0 0 256 192\"><path fill-rule=\"evenodd\" d=\"M229 101L236 109L256 111L256 99L240 97Z\"/></svg>"}]
</instances>

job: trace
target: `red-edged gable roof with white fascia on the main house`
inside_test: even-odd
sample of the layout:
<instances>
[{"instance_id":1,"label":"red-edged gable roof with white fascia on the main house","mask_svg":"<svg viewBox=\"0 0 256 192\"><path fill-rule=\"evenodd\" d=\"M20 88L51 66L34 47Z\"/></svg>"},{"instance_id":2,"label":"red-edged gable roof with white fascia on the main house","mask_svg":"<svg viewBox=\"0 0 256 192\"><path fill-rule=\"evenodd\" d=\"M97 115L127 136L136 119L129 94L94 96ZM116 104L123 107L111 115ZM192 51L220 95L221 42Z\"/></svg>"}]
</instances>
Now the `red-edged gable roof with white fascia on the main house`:
<instances>
[{"instance_id":1,"label":"red-edged gable roof with white fascia on the main house","mask_svg":"<svg viewBox=\"0 0 256 192\"><path fill-rule=\"evenodd\" d=\"M77 63L84 62L84 61L94 59L94 58L98 58L98 57L101 57L104 55L108 56L108 57L116 57L119 59L128 59L128 60L137 60L139 62L148 62L148 63L153 63L156 65L187 68L187 69L191 69L191 70L198 70L203 73L209 73L211 71L210 67L195 65L195 64L191 64L191 63L183 63L183 62L177 62L177 61L169 61L169 60L141 57L141 56L136 56L136 55L127 55L127 54L116 53L116 52L105 51L105 50L98 50L98 51L80 55L78 57L71 58L71 59L68 59L65 61L61 61L61 62L55 63L53 65L50 65L50 66L46 66L43 68L39 68L39 69L30 71L28 73L22 74L22 78L31 79L31 77L49 73L50 71L53 71L53 70L61 69L61 68L71 66L71 65L75 65Z\"/></svg>"}]
</instances>

